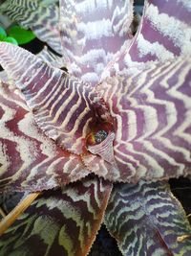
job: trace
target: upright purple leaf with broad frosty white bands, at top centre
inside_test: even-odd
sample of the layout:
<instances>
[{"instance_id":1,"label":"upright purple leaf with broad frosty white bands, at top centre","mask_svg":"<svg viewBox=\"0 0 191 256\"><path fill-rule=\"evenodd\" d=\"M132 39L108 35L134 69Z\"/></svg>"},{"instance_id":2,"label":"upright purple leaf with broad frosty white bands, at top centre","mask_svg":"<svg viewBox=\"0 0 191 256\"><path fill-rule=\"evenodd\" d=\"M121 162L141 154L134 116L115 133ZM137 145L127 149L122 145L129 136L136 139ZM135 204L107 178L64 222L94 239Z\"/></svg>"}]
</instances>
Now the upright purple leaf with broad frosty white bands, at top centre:
<instances>
[{"instance_id":1,"label":"upright purple leaf with broad frosty white bands, at top centre","mask_svg":"<svg viewBox=\"0 0 191 256\"><path fill-rule=\"evenodd\" d=\"M133 0L60 0L60 28L69 73L95 84L132 38Z\"/></svg>"}]
</instances>

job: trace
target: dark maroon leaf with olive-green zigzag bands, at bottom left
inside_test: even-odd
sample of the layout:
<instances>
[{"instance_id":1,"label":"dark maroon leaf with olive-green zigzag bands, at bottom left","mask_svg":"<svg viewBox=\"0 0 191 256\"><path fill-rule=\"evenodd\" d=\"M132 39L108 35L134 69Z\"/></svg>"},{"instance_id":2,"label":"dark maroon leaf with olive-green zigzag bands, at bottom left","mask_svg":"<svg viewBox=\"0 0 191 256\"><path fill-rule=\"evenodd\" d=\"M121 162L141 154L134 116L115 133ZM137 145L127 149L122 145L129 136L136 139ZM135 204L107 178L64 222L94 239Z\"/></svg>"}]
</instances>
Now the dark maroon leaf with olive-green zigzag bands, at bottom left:
<instances>
[{"instance_id":1,"label":"dark maroon leaf with olive-green zigzag bands, at bottom left","mask_svg":"<svg viewBox=\"0 0 191 256\"><path fill-rule=\"evenodd\" d=\"M1 255L87 255L111 188L109 182L89 177L44 193L1 236Z\"/></svg>"}]
</instances>

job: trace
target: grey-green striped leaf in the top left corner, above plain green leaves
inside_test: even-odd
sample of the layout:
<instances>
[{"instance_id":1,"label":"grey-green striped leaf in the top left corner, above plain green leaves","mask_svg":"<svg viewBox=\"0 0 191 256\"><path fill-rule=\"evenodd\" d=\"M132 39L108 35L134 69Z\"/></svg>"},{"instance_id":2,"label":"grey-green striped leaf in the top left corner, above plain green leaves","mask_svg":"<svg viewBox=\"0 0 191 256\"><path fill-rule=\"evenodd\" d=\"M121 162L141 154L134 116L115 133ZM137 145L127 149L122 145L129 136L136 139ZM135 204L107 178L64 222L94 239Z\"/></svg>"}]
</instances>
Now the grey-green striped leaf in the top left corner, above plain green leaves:
<instances>
[{"instance_id":1,"label":"grey-green striped leaf in the top left corner, above plain green leaves","mask_svg":"<svg viewBox=\"0 0 191 256\"><path fill-rule=\"evenodd\" d=\"M7 0L0 6L0 12L24 28L31 29L40 40L62 55L58 28L59 8L55 3L46 5L41 0Z\"/></svg>"}]
</instances>

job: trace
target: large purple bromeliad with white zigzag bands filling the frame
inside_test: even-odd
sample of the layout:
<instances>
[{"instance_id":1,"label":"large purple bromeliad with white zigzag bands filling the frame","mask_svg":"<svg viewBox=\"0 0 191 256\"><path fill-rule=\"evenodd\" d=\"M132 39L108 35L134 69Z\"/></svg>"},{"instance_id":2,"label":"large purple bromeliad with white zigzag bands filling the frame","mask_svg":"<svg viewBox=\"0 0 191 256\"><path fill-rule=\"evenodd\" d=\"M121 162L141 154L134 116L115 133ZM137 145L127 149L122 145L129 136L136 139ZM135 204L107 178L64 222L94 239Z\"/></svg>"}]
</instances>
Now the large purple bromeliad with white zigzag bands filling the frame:
<instances>
[{"instance_id":1,"label":"large purple bromeliad with white zigzag bands filling the frame","mask_svg":"<svg viewBox=\"0 0 191 256\"><path fill-rule=\"evenodd\" d=\"M1 255L87 255L101 222L123 255L190 255L168 179L191 174L191 7L146 1L132 37L132 2L60 1L69 74L0 43L0 188L43 191Z\"/></svg>"}]
</instances>

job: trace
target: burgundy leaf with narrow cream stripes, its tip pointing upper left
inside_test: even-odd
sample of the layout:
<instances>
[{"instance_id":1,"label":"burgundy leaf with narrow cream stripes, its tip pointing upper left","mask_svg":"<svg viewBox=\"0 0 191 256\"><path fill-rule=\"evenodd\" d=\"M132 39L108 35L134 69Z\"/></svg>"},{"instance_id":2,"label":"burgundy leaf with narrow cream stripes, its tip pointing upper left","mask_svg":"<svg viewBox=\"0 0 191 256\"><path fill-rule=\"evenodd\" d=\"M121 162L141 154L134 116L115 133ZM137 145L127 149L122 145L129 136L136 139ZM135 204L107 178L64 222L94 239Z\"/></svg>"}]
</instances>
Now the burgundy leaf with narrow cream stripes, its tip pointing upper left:
<instances>
[{"instance_id":1,"label":"burgundy leaf with narrow cream stripes, its tip pointing upper left","mask_svg":"<svg viewBox=\"0 0 191 256\"><path fill-rule=\"evenodd\" d=\"M0 43L0 63L24 94L39 128L64 149L82 153L90 125L106 111L95 90L9 43Z\"/></svg>"}]
</instances>

